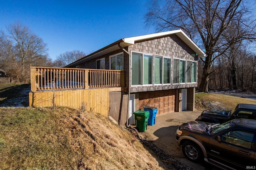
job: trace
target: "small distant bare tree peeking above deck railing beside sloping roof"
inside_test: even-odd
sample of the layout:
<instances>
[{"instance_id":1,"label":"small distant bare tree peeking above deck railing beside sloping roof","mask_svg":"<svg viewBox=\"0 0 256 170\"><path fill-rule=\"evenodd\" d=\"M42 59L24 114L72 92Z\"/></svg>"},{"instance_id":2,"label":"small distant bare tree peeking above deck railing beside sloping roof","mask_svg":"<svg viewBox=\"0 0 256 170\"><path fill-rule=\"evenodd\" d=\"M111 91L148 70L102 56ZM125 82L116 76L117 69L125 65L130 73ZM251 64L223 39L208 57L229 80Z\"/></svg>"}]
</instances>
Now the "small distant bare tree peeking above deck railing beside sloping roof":
<instances>
[{"instance_id":1,"label":"small distant bare tree peeking above deck railing beside sloping roof","mask_svg":"<svg viewBox=\"0 0 256 170\"><path fill-rule=\"evenodd\" d=\"M66 51L65 53L61 53L60 55L57 56L57 59L54 61L54 66L64 67L85 56L86 56L86 53L79 50Z\"/></svg>"}]
</instances>

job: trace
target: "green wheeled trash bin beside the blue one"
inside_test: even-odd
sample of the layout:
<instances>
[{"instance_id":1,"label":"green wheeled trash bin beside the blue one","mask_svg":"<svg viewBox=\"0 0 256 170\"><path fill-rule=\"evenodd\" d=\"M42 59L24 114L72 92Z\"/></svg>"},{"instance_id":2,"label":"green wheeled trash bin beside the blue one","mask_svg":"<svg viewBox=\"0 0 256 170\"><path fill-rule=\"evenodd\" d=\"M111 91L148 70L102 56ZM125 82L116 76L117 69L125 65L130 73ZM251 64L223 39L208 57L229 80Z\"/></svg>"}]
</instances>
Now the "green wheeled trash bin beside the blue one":
<instances>
[{"instance_id":1,"label":"green wheeled trash bin beside the blue one","mask_svg":"<svg viewBox=\"0 0 256 170\"><path fill-rule=\"evenodd\" d=\"M137 110L134 113L136 126L138 127L139 132L145 132L148 128L148 117L149 111Z\"/></svg>"}]
</instances>

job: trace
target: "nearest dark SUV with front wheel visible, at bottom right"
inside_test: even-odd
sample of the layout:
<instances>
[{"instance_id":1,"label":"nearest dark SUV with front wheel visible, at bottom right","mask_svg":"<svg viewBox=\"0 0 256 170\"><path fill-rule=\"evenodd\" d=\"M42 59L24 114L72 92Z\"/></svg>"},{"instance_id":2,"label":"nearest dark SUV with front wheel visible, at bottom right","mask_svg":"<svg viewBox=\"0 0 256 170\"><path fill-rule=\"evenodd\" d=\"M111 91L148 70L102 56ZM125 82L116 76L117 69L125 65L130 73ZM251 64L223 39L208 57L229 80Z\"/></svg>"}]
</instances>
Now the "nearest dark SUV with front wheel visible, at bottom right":
<instances>
[{"instance_id":1,"label":"nearest dark SUV with front wheel visible, at bottom right","mask_svg":"<svg viewBox=\"0 0 256 170\"><path fill-rule=\"evenodd\" d=\"M255 134L253 119L233 119L222 124L190 121L178 127L176 141L192 162L204 160L222 169L255 169Z\"/></svg>"}]
</instances>

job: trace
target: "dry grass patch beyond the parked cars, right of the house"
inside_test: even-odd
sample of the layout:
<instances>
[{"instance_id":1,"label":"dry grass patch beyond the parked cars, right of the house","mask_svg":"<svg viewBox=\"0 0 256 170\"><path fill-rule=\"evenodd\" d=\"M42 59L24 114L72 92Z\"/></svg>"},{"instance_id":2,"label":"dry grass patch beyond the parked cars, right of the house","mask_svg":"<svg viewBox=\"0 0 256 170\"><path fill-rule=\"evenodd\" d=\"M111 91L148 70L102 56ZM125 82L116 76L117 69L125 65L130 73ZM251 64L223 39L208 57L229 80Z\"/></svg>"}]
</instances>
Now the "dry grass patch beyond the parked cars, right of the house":
<instances>
[{"instance_id":1,"label":"dry grass patch beyond the parked cars, right of the house","mask_svg":"<svg viewBox=\"0 0 256 170\"><path fill-rule=\"evenodd\" d=\"M197 93L195 99L195 107L200 111L204 109L216 109L214 104L216 104L215 106L223 107L227 110L231 109L232 111L234 111L236 105L239 103L256 104L256 100L213 93ZM213 105L211 106L209 104Z\"/></svg>"}]
</instances>

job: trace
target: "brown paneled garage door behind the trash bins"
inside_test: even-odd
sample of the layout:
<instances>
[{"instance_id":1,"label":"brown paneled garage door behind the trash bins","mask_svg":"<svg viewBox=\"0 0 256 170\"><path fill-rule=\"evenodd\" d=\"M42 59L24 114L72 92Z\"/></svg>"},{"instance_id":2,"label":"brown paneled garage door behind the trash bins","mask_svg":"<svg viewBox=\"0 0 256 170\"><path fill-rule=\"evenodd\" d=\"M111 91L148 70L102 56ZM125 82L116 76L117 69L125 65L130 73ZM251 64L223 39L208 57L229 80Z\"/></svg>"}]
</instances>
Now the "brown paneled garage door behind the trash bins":
<instances>
[{"instance_id":1,"label":"brown paneled garage door behind the trash bins","mask_svg":"<svg viewBox=\"0 0 256 170\"><path fill-rule=\"evenodd\" d=\"M139 93L139 109L144 106L158 108L157 115L174 112L176 90L161 90Z\"/></svg>"}]
</instances>

